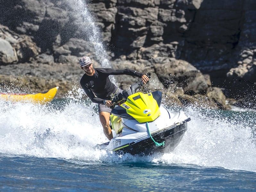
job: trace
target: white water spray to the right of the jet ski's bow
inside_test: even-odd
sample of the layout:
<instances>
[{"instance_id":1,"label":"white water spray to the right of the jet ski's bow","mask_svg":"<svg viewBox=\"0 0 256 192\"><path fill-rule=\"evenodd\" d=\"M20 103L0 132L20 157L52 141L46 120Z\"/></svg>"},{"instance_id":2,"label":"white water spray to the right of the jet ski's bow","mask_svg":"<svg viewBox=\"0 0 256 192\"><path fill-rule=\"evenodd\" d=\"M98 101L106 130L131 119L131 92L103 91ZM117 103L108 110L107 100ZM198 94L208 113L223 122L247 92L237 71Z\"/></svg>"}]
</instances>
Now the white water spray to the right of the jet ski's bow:
<instances>
[{"instance_id":1,"label":"white water spray to the right of the jet ski's bow","mask_svg":"<svg viewBox=\"0 0 256 192\"><path fill-rule=\"evenodd\" d=\"M192 121L183 140L174 152L156 161L256 171L256 114L248 124L248 120L230 120L216 111L209 115L191 107L186 113Z\"/></svg>"}]
</instances>

